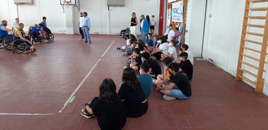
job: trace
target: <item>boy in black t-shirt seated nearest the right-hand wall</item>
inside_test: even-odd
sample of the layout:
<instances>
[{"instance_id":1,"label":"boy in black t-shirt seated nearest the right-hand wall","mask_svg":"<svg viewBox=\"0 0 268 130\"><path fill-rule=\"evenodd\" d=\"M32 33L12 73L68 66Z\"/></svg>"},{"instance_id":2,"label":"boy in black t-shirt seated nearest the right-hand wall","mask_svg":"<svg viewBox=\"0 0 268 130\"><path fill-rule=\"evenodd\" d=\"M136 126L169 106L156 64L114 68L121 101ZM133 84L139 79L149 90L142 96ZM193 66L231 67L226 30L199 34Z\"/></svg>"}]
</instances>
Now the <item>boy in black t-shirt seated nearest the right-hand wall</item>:
<instances>
[{"instance_id":1,"label":"boy in black t-shirt seated nearest the right-hand wall","mask_svg":"<svg viewBox=\"0 0 268 130\"><path fill-rule=\"evenodd\" d=\"M179 71L187 74L188 79L191 80L193 78L193 65L190 62L190 60L187 60L188 53L187 52L180 53L179 57L181 57L182 59L182 61L179 64Z\"/></svg>"}]
</instances>

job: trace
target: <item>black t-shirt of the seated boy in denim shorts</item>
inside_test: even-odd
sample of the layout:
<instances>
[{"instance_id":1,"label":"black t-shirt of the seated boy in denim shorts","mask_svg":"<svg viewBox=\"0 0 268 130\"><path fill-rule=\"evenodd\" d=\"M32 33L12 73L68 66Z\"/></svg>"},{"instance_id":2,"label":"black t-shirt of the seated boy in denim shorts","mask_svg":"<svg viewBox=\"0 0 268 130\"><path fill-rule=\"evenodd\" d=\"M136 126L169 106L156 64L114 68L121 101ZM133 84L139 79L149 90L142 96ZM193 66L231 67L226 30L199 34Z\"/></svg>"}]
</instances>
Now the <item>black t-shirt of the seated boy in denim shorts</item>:
<instances>
[{"instance_id":1,"label":"black t-shirt of the seated boy in denim shorts","mask_svg":"<svg viewBox=\"0 0 268 130\"><path fill-rule=\"evenodd\" d=\"M177 72L175 76L171 75L169 78L185 96L189 97L192 95L190 81L183 72Z\"/></svg>"}]
</instances>

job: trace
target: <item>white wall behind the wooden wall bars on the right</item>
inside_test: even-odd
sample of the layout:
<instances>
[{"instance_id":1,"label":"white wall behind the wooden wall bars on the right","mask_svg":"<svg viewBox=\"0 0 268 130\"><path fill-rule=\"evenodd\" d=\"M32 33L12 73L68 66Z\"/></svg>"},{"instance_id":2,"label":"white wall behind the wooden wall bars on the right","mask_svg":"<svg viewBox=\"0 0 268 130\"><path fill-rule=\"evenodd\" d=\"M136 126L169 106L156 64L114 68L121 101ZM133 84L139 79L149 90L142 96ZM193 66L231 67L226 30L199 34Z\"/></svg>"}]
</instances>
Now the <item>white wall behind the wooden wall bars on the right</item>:
<instances>
[{"instance_id":1,"label":"white wall behind the wooden wall bars on the right","mask_svg":"<svg viewBox=\"0 0 268 130\"><path fill-rule=\"evenodd\" d=\"M266 7L268 2L253 3L251 7ZM244 16L245 1L242 0L208 0L207 14L205 21L205 32L203 40L203 57L204 59L212 59L216 65L223 70L229 72L233 76L237 71L238 52L240 47L241 30ZM224 5L224 6L223 6ZM211 12L210 12L211 11ZM209 18L208 15L212 14ZM250 12L251 16L265 16L266 11ZM250 20L250 24L264 25L264 20ZM263 33L263 28L250 27L250 32ZM247 35L246 39L262 42L262 37ZM260 50L260 46L257 44L246 43L246 47ZM259 58L260 54L246 50L246 55ZM252 65L258 66L258 62L244 58L243 61ZM267 65L265 64L263 79L267 84L268 73L266 73ZM243 65L242 68L257 74L254 68ZM249 74L243 73L244 77L247 77L251 81L256 81L255 77L251 77ZM246 82L246 81L245 81ZM248 82L246 82L248 83ZM253 86L251 83L249 85ZM263 89L263 93L268 95L266 87Z\"/></svg>"}]
</instances>

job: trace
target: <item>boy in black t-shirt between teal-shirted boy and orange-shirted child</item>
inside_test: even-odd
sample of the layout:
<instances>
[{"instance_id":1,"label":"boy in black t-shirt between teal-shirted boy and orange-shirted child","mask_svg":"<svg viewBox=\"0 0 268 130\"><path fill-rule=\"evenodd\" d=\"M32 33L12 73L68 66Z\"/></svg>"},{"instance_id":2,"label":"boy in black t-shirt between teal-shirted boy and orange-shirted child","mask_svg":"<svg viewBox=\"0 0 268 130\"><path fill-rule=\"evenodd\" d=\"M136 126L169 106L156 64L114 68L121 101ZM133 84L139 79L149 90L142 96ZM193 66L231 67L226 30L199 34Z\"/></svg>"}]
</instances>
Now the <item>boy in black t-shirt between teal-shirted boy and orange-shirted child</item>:
<instances>
[{"instance_id":1,"label":"boy in black t-shirt between teal-shirted boy and orange-shirted child","mask_svg":"<svg viewBox=\"0 0 268 130\"><path fill-rule=\"evenodd\" d=\"M149 74L153 79L157 79L157 76L161 74L161 67L159 63L150 58L150 53L144 52L141 53L141 60L145 61L150 65Z\"/></svg>"}]
</instances>

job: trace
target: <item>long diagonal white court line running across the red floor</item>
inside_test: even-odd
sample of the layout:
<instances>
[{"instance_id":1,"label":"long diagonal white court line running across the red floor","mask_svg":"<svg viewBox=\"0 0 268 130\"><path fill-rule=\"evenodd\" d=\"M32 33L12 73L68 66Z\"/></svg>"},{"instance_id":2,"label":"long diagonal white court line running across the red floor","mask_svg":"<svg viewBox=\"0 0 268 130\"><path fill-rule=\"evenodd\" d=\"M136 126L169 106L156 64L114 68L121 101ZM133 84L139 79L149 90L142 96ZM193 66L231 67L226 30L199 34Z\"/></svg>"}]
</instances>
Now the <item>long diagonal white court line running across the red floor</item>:
<instances>
[{"instance_id":1,"label":"long diagonal white court line running across the red floor","mask_svg":"<svg viewBox=\"0 0 268 130\"><path fill-rule=\"evenodd\" d=\"M113 40L113 42L114 42L114 40ZM113 44L113 42L112 42L112 44ZM112 44L108 47L108 49L112 46ZM104 56L104 54L108 51L108 49L103 53L103 55L101 56L101 57L103 57ZM98 62L100 61L101 59L99 59L98 61L97 61L97 63L95 63L95 65L93 66L93 68L89 71L89 73L87 74L87 76L83 79L83 81L79 84L79 86L74 90L74 92L72 93L72 95L69 97L69 99L65 102L65 104L63 105L63 108L59 111L59 113L61 113L62 112L62 110L63 109L65 109L65 107L66 107L66 105L69 103L69 102L71 102L71 101L73 101L74 100L74 94L78 91L78 89L81 87L81 85L84 83L84 81L89 77L89 75L90 75L90 73L93 71L93 69L97 66L97 64L98 64Z\"/></svg>"}]
</instances>

